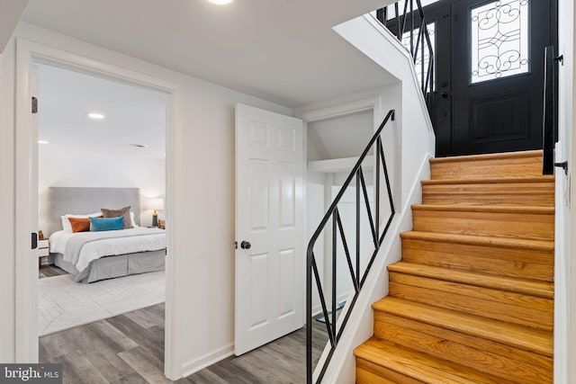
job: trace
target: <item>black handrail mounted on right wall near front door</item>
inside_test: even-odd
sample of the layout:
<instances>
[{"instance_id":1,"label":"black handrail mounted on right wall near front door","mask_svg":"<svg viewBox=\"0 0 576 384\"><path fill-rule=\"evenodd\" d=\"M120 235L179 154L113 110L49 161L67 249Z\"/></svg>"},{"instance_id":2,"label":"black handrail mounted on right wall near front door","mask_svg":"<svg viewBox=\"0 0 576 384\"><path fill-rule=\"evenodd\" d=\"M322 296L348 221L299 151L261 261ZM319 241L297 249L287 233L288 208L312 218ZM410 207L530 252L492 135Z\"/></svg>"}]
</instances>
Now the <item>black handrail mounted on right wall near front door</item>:
<instances>
[{"instance_id":1,"label":"black handrail mounted on right wall near front door","mask_svg":"<svg viewBox=\"0 0 576 384\"><path fill-rule=\"evenodd\" d=\"M542 174L554 174L554 143L556 142L556 112L554 100L554 46L546 47L544 51L544 116L543 116L543 147Z\"/></svg>"}]
</instances>

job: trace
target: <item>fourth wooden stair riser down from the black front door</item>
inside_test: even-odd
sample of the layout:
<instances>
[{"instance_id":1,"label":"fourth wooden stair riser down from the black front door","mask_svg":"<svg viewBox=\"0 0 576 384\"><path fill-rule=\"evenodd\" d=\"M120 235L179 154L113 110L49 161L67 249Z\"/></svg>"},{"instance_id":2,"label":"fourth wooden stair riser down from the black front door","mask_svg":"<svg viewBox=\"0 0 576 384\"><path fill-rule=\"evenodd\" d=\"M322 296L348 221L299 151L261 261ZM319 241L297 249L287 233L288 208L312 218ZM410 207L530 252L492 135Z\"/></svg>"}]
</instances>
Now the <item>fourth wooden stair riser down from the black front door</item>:
<instances>
[{"instance_id":1,"label":"fourth wooden stair riser down from the black front door","mask_svg":"<svg viewBox=\"0 0 576 384\"><path fill-rule=\"evenodd\" d=\"M554 281L554 251L403 238L402 260L500 276Z\"/></svg>"}]
</instances>

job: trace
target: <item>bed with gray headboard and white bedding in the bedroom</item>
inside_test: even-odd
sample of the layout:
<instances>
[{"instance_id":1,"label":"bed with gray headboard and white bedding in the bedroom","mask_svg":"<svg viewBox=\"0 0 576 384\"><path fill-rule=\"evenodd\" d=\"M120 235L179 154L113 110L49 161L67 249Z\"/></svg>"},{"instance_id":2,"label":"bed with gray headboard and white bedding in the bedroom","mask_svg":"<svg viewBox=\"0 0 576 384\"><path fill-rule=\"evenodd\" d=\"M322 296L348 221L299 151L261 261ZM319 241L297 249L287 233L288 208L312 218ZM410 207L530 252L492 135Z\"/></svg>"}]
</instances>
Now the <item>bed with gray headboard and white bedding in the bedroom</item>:
<instances>
[{"instance_id":1,"label":"bed with gray headboard and white bedding in the bedroom","mask_svg":"<svg viewBox=\"0 0 576 384\"><path fill-rule=\"evenodd\" d=\"M158 228L130 228L71 233L61 216L89 214L130 205L139 223L138 188L52 187L48 192L49 251L54 263L78 282L94 282L165 268L166 233Z\"/></svg>"}]
</instances>

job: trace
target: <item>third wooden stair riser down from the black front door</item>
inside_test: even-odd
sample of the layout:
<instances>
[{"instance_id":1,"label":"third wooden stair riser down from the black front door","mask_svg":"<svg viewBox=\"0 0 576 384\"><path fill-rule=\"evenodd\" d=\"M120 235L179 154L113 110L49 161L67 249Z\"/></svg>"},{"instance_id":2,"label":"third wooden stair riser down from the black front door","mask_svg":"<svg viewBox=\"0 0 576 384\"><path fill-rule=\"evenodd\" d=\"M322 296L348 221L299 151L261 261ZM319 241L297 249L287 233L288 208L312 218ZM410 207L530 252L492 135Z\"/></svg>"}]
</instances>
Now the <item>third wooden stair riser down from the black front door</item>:
<instances>
[{"instance_id":1,"label":"third wooden stair riser down from the black front door","mask_svg":"<svg viewBox=\"0 0 576 384\"><path fill-rule=\"evenodd\" d=\"M413 210L413 230L483 237L554 240L554 215L468 210Z\"/></svg>"}]
</instances>

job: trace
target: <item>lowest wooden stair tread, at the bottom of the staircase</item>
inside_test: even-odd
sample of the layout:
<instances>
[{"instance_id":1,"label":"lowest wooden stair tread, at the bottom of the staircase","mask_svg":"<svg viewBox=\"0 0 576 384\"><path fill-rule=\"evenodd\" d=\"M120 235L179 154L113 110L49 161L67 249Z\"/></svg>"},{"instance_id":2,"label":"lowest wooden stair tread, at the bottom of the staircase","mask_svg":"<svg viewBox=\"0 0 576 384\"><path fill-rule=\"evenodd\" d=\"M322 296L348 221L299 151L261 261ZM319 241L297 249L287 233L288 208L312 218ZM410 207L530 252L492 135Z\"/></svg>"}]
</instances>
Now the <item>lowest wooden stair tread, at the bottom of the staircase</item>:
<instances>
[{"instance_id":1,"label":"lowest wooden stair tread, at the bottom of the staircase","mask_svg":"<svg viewBox=\"0 0 576 384\"><path fill-rule=\"evenodd\" d=\"M461 365L404 349L372 337L354 351L356 359L396 371L424 383L497 383L497 379Z\"/></svg>"}]
</instances>

